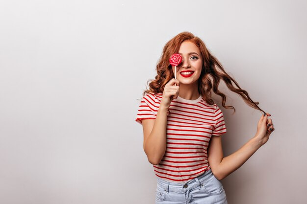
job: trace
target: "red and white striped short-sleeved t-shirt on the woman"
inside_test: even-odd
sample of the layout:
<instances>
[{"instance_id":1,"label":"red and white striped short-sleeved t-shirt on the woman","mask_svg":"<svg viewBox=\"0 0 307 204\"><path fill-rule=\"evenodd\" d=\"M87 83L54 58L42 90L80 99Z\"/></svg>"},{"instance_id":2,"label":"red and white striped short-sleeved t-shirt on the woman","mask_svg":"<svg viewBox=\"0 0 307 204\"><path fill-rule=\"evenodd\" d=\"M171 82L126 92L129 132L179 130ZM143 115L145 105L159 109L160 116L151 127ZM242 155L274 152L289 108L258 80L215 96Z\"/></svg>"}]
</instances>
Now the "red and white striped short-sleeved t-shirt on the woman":
<instances>
[{"instance_id":1,"label":"red and white striped short-sleeved t-shirt on the woman","mask_svg":"<svg viewBox=\"0 0 307 204\"><path fill-rule=\"evenodd\" d=\"M162 93L148 93L140 103L136 122L155 119ZM166 181L185 183L210 169L207 147L211 135L226 133L221 109L209 105L202 95L196 100L177 97L167 114L167 146L163 159L153 165L157 177Z\"/></svg>"}]
</instances>

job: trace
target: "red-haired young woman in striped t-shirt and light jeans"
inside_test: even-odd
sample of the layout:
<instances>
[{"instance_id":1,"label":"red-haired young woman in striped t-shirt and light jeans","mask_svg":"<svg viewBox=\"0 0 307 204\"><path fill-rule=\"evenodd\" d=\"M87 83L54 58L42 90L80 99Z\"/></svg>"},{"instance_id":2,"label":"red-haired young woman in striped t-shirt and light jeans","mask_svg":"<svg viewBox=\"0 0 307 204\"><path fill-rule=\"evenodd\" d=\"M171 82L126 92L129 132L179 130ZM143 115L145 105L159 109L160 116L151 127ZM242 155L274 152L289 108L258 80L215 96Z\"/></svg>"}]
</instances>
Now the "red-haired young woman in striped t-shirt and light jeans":
<instances>
[{"instance_id":1,"label":"red-haired young woman in striped t-shirt and light jeans","mask_svg":"<svg viewBox=\"0 0 307 204\"><path fill-rule=\"evenodd\" d=\"M169 62L175 53L182 58L176 73ZM252 101L204 42L190 32L179 33L164 46L156 70L135 119L143 126L144 151L157 176L156 204L227 204L219 180L268 141L274 131L272 119L267 118L271 115ZM227 132L224 116L211 90L222 97L223 107L235 109L225 106L226 96L218 90L220 80L263 112L255 136L228 157L222 149L221 135Z\"/></svg>"}]
</instances>

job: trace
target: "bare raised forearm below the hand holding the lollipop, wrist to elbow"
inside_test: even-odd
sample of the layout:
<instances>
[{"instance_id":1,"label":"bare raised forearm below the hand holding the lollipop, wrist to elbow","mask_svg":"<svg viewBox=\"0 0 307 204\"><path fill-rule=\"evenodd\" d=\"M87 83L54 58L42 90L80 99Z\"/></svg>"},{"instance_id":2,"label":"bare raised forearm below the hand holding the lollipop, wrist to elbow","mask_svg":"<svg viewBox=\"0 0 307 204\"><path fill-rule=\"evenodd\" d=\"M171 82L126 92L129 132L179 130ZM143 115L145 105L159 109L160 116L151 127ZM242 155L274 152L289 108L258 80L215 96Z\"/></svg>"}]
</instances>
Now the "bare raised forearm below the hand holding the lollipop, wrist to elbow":
<instances>
[{"instance_id":1,"label":"bare raised forearm below the hand holding the lollipop, wrist to elbow","mask_svg":"<svg viewBox=\"0 0 307 204\"><path fill-rule=\"evenodd\" d=\"M167 107L159 107L153 130L145 141L144 151L153 165L161 161L166 151L167 111Z\"/></svg>"}]
</instances>

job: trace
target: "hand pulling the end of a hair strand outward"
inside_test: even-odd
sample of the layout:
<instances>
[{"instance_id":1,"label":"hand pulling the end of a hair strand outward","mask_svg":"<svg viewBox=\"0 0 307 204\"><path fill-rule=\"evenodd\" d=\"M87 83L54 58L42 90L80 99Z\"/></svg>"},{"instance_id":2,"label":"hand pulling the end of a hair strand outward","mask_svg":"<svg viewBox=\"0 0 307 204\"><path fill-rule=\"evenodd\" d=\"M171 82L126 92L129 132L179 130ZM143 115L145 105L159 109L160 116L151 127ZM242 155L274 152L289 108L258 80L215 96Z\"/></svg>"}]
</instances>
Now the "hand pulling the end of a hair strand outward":
<instances>
[{"instance_id":1,"label":"hand pulling the end of a hair strand outward","mask_svg":"<svg viewBox=\"0 0 307 204\"><path fill-rule=\"evenodd\" d=\"M256 138L259 139L261 146L264 145L270 137L270 134L275 130L272 119L268 119L270 113L262 114L257 125Z\"/></svg>"}]
</instances>

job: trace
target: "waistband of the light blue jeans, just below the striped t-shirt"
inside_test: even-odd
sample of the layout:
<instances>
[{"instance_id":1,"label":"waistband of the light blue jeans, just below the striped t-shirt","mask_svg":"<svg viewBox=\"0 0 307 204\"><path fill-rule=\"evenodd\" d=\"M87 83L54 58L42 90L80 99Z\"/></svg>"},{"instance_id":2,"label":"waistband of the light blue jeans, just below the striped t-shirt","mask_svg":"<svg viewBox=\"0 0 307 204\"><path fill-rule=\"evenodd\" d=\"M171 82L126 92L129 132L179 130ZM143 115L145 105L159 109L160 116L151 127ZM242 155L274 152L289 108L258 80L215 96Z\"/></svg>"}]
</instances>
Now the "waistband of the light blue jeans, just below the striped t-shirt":
<instances>
[{"instance_id":1,"label":"waistband of the light blue jeans, just below the striped t-shirt","mask_svg":"<svg viewBox=\"0 0 307 204\"><path fill-rule=\"evenodd\" d=\"M203 183L204 181L208 180L209 178L211 178L212 171L211 169L206 170L202 175L187 181L185 183L175 183L175 182L169 182L169 181L165 181L161 178L157 177L157 183L158 185L160 185L162 188L164 188L164 190L166 192L168 192L169 190L171 191L182 191L186 188L189 189L194 189L196 187L201 188L201 183Z\"/></svg>"}]
</instances>

